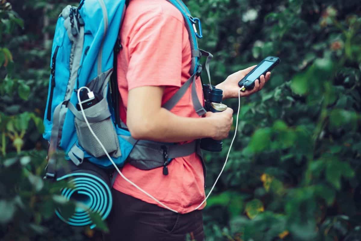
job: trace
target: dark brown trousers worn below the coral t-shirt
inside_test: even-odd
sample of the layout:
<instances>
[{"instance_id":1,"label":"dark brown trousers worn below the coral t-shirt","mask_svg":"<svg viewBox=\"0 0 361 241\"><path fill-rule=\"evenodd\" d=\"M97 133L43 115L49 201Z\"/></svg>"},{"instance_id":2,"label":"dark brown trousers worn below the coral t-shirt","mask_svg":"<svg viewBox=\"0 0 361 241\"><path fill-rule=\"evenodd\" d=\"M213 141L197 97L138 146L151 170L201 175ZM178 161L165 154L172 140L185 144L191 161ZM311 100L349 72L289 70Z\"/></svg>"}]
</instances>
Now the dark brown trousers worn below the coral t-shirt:
<instances>
[{"instance_id":1,"label":"dark brown trousers worn below the coral t-shirt","mask_svg":"<svg viewBox=\"0 0 361 241\"><path fill-rule=\"evenodd\" d=\"M113 207L107 219L109 241L204 241L201 210L177 214L112 190Z\"/></svg>"}]
</instances>

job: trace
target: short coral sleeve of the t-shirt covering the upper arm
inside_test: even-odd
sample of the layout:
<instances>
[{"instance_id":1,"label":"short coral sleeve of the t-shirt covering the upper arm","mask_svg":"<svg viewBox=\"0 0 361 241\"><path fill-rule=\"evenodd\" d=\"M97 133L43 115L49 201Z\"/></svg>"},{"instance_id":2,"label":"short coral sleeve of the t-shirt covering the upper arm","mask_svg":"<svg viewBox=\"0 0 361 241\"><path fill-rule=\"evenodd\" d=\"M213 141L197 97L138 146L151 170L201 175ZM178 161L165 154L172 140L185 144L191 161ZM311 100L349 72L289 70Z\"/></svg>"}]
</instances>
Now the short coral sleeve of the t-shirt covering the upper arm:
<instances>
[{"instance_id":1,"label":"short coral sleeve of the t-shirt covering the upper arm","mask_svg":"<svg viewBox=\"0 0 361 241\"><path fill-rule=\"evenodd\" d=\"M129 36L128 89L181 86L183 23L170 14L148 13Z\"/></svg>"}]
</instances>

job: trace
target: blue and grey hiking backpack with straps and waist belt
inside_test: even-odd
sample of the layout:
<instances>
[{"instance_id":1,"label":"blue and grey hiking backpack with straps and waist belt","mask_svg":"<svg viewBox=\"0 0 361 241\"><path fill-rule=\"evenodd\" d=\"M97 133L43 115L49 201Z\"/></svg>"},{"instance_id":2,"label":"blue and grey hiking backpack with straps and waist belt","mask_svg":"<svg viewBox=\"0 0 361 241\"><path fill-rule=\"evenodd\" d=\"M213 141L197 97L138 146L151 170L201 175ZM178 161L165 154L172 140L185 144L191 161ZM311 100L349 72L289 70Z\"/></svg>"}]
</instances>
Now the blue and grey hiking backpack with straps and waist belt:
<instances>
[{"instance_id":1,"label":"blue and grey hiking backpack with straps and waist belt","mask_svg":"<svg viewBox=\"0 0 361 241\"><path fill-rule=\"evenodd\" d=\"M203 115L205 109L197 98L195 80L202 69L199 58L207 56L209 74L208 63L212 55L198 49L196 38L202 37L199 19L191 16L181 0L168 1L183 14L192 48L192 64L191 77L163 107L173 108L192 85L193 106L198 115ZM194 152L201 155L198 140L185 145L135 140L121 122L114 68L116 54L122 48L119 30L125 8L125 0L82 0L79 7L67 6L58 18L44 117L43 137L49 141L47 178L56 177L53 154L58 149L77 166L86 160L101 168L113 168L79 110L77 94L84 86L92 92L79 93L84 114L118 167L125 162L145 170L163 167L163 174L167 175L167 165L173 158Z\"/></svg>"}]
</instances>

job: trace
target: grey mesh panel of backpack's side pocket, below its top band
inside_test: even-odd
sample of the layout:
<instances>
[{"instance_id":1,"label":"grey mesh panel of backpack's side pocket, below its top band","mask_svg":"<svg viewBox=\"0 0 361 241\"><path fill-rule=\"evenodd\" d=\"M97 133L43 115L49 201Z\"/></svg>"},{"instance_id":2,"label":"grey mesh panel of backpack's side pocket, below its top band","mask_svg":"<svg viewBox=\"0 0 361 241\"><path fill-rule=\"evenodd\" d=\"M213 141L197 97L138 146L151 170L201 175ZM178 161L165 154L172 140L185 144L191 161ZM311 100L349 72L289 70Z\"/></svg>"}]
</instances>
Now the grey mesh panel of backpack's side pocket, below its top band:
<instances>
[{"instance_id":1,"label":"grey mesh panel of backpack's side pocket, below its top band","mask_svg":"<svg viewBox=\"0 0 361 241\"><path fill-rule=\"evenodd\" d=\"M106 152L117 157L119 141L114 125L110 117L100 122L89 123L95 135L105 147ZM95 139L85 121L75 118L75 128L77 130L78 142L84 150L95 157L105 156L103 148Z\"/></svg>"}]
</instances>

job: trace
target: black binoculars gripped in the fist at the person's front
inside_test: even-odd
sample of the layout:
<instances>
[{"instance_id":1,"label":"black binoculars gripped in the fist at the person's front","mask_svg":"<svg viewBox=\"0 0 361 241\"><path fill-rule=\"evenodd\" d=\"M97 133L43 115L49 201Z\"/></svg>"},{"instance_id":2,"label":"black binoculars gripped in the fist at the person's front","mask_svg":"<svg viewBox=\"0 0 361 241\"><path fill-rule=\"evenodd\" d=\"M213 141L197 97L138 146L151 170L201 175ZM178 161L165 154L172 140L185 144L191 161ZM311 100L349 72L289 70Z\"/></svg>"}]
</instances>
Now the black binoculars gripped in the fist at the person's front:
<instances>
[{"instance_id":1,"label":"black binoculars gripped in the fist at the person's front","mask_svg":"<svg viewBox=\"0 0 361 241\"><path fill-rule=\"evenodd\" d=\"M223 90L216 89L214 85L203 85L203 95L205 99L205 110L210 112L222 112L227 109L222 104ZM212 138L203 138L200 141L200 147L206 151L222 151L222 140L214 140Z\"/></svg>"}]
</instances>

